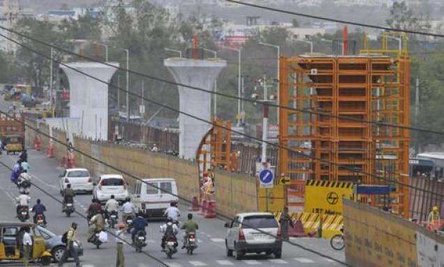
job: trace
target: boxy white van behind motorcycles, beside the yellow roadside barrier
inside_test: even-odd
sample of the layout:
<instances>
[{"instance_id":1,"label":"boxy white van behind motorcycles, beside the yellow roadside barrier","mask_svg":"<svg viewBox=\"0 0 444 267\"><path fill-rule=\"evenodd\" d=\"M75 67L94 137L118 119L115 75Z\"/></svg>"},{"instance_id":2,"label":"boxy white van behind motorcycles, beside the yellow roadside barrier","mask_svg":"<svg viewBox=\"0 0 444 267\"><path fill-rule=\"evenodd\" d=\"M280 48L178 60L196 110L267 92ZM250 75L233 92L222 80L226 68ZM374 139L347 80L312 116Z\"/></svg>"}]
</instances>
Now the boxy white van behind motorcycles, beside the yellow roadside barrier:
<instances>
[{"instance_id":1,"label":"boxy white van behind motorcycles, beside the yellow roadside barrier","mask_svg":"<svg viewBox=\"0 0 444 267\"><path fill-rule=\"evenodd\" d=\"M179 201L177 185L173 178L148 178L133 186L132 202L149 219L165 218L163 213L173 201ZM153 185L153 186L150 186ZM169 194L168 192L175 194Z\"/></svg>"}]
</instances>

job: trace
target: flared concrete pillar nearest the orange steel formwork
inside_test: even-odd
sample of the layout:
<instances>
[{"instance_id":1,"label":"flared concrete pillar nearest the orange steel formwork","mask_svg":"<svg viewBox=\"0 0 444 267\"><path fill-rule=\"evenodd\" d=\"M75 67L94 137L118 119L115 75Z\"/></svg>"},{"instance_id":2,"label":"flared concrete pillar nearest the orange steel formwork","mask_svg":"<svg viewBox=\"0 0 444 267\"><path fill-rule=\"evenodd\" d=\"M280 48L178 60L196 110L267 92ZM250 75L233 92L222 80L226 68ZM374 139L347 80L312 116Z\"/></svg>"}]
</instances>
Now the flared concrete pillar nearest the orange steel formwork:
<instances>
[{"instance_id":1,"label":"flared concrete pillar nearest the orange steel formwork","mask_svg":"<svg viewBox=\"0 0 444 267\"><path fill-rule=\"evenodd\" d=\"M179 84L213 90L214 81L227 66L223 60L195 60L171 58L165 59L165 66ZM179 108L181 112L192 114L198 118L211 120L211 93L205 93L189 89L183 86L179 88ZM179 156L188 160L195 159L198 146L202 137L212 125L179 114Z\"/></svg>"}]
</instances>

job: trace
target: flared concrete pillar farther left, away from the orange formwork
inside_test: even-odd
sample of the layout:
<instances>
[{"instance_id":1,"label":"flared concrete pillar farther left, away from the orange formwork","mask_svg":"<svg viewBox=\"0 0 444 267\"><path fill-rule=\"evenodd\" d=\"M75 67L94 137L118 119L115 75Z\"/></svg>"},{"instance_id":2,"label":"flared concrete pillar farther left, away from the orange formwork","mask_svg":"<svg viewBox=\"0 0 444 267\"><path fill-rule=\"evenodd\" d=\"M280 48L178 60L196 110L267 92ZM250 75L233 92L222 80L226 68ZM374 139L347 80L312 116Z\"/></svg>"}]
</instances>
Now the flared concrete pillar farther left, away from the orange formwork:
<instances>
[{"instance_id":1,"label":"flared concrete pillar farther left, away from the orange formwork","mask_svg":"<svg viewBox=\"0 0 444 267\"><path fill-rule=\"evenodd\" d=\"M119 63L108 64L119 66ZM66 63L66 65L108 83L116 72L115 68L101 63L73 62ZM80 119L80 128L78 129L80 132L74 133L92 139L107 140L108 84L77 73L66 66L60 68L68 77L70 117Z\"/></svg>"}]
</instances>

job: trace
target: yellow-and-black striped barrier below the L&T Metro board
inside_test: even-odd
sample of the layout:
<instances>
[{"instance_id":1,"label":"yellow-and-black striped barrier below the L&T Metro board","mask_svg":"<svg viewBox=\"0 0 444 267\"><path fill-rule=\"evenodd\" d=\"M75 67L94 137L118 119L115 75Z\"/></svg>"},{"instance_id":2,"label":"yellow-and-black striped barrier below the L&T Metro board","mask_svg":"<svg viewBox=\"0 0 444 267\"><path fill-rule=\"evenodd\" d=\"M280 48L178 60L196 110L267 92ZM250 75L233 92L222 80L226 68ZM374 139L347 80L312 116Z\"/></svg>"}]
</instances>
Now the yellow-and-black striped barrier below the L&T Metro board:
<instances>
[{"instance_id":1,"label":"yellow-and-black striped barrier below the L&T Metro board","mask_svg":"<svg viewBox=\"0 0 444 267\"><path fill-rule=\"evenodd\" d=\"M282 213L274 213L277 220L281 219L281 214ZM293 221L293 227L289 227L288 235L293 237L319 236L322 238L331 238L335 234L340 234L341 227L343 227L342 215L321 215L320 213L305 212L289 213L289 215ZM322 227L320 227L320 225L322 225ZM301 227L303 232L301 231Z\"/></svg>"}]
</instances>

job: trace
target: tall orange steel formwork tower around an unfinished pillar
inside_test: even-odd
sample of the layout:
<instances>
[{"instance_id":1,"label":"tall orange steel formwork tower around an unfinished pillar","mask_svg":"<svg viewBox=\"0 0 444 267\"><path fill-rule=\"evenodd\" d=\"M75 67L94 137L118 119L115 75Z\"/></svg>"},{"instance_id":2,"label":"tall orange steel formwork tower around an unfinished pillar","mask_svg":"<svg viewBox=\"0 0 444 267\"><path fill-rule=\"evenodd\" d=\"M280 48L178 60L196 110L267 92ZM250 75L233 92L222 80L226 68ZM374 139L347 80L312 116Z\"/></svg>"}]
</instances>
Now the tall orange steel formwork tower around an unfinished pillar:
<instances>
[{"instance_id":1,"label":"tall orange steel formwork tower around an unfinished pillar","mask_svg":"<svg viewBox=\"0 0 444 267\"><path fill-rule=\"evenodd\" d=\"M279 105L297 109L279 110L279 144L292 150L279 150L289 206L303 206L308 179L387 183L377 175L408 184L408 130L362 122L409 125L408 56L310 54L280 64ZM390 197L393 211L408 216L408 188L397 185Z\"/></svg>"}]
</instances>

